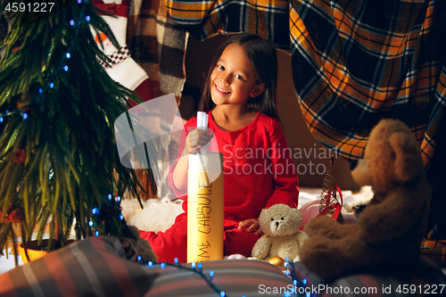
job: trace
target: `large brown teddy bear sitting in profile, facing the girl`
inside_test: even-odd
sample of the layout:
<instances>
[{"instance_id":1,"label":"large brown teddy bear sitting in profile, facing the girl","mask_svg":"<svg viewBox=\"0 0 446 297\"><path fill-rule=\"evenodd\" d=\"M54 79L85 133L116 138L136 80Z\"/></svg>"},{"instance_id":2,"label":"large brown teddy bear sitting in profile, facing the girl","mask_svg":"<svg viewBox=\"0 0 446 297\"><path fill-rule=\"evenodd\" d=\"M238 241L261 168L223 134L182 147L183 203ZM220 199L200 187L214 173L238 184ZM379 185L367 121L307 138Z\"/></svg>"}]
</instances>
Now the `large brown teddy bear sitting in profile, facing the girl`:
<instances>
[{"instance_id":1,"label":"large brown teddy bear sitting in profile, facing the girl","mask_svg":"<svg viewBox=\"0 0 446 297\"><path fill-rule=\"evenodd\" d=\"M357 272L405 268L420 255L430 187L417 141L400 120L381 120L370 133L364 159L351 171L375 193L358 222L310 220L301 263L326 279Z\"/></svg>"}]
</instances>

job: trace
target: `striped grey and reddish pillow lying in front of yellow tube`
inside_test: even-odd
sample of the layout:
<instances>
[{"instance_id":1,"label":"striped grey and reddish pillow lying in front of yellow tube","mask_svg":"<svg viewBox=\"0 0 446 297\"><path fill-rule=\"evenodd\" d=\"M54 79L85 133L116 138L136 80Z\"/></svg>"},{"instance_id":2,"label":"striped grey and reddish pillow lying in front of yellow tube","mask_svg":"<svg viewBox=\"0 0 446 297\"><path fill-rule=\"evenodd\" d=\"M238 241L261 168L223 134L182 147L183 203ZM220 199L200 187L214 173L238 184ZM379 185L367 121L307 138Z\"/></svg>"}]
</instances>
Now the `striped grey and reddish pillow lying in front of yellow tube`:
<instances>
[{"instance_id":1,"label":"striped grey and reddish pillow lying in front of yellow tube","mask_svg":"<svg viewBox=\"0 0 446 297\"><path fill-rule=\"evenodd\" d=\"M191 264L182 264L191 268ZM186 269L159 265L153 267L159 276L145 297L204 297L219 296L202 276ZM279 268L260 260L214 260L202 262L202 272L211 284L226 296L285 296L291 292L293 281Z\"/></svg>"}]
</instances>

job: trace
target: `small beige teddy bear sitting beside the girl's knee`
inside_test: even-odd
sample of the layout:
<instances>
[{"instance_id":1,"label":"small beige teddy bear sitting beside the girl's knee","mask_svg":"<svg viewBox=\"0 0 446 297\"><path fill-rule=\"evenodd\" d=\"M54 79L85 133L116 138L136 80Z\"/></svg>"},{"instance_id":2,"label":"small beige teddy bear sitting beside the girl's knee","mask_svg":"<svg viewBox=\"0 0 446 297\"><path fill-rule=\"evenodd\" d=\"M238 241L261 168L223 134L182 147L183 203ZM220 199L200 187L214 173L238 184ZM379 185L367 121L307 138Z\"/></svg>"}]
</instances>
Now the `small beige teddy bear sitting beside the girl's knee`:
<instances>
[{"instance_id":1,"label":"small beige teddy bear sitting beside the girl's knee","mask_svg":"<svg viewBox=\"0 0 446 297\"><path fill-rule=\"evenodd\" d=\"M272 257L299 260L299 250L309 236L299 231L301 211L286 204L275 204L261 210L259 223L263 235L252 248L252 257L269 260Z\"/></svg>"}]
</instances>

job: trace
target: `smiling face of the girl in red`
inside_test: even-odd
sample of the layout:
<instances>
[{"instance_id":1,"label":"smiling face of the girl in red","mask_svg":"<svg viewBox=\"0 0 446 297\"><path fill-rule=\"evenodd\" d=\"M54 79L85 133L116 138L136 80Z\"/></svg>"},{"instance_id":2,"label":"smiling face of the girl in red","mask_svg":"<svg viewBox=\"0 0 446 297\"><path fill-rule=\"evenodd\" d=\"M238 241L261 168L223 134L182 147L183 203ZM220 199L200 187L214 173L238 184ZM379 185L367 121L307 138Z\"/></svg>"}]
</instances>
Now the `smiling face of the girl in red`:
<instances>
[{"instance_id":1,"label":"smiling face of the girl in red","mask_svg":"<svg viewBox=\"0 0 446 297\"><path fill-rule=\"evenodd\" d=\"M242 45L227 45L211 72L211 98L216 105L246 104L261 94L264 85L255 79L251 62Z\"/></svg>"}]
</instances>

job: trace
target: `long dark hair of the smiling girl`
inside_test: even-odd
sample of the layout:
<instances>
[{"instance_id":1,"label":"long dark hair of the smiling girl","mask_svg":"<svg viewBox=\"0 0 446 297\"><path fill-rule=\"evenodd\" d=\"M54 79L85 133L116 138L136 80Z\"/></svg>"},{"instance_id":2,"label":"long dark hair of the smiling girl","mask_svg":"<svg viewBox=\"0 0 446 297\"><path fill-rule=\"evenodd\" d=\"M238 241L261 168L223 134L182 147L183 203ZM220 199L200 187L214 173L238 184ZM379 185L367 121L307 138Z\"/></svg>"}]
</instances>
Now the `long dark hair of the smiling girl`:
<instances>
[{"instance_id":1,"label":"long dark hair of the smiling girl","mask_svg":"<svg viewBox=\"0 0 446 297\"><path fill-rule=\"evenodd\" d=\"M211 111L215 103L211 100L210 79L211 72L217 66L217 62L223 51L230 44L239 44L244 47L244 54L251 62L258 83L265 85L265 90L257 97L248 99L247 107L250 111L259 111L277 119L276 111L276 86L277 86L277 55L276 46L270 40L249 33L236 34L219 46L211 69L206 76L206 82L202 90L202 97L198 104L199 111Z\"/></svg>"}]
</instances>

